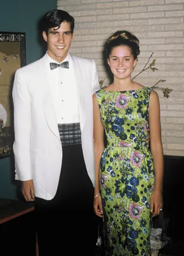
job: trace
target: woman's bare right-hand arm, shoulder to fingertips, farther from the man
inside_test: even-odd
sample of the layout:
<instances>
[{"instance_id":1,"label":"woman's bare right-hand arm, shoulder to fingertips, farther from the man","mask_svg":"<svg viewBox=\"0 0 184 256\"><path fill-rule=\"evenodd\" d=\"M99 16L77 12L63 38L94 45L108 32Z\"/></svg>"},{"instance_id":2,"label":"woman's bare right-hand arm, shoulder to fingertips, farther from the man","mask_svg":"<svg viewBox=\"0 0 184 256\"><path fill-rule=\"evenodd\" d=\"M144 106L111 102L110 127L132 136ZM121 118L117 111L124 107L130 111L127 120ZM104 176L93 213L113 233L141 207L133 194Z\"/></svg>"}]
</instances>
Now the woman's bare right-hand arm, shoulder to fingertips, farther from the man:
<instances>
[{"instance_id":1,"label":"woman's bare right-hand arm, shoulder to fingertips, farther from the man","mask_svg":"<svg viewBox=\"0 0 184 256\"><path fill-rule=\"evenodd\" d=\"M155 91L152 91L150 95L149 126L151 153L154 160L155 170L155 190L151 197L151 212L153 212L152 216L155 217L160 213L160 208L162 208L162 184L164 171L160 126L160 103L158 94Z\"/></svg>"}]
</instances>

